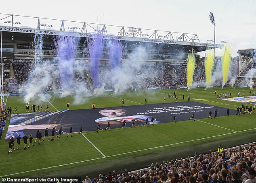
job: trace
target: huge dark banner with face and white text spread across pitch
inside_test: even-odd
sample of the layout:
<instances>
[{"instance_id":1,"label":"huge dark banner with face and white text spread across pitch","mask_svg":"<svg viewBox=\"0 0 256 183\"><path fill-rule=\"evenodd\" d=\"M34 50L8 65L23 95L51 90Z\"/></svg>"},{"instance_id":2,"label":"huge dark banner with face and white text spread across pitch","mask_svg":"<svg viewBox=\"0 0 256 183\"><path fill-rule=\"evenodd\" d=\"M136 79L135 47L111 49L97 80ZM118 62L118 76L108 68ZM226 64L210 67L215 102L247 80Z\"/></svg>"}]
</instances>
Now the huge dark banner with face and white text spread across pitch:
<instances>
[{"instance_id":1,"label":"huge dark banner with face and white text spread across pitch","mask_svg":"<svg viewBox=\"0 0 256 183\"><path fill-rule=\"evenodd\" d=\"M56 128L54 134L58 134L60 127L65 134L69 133L71 125L73 125L73 132L80 132L81 126L83 126L83 131L96 131L98 123L100 129L105 129L108 121L111 128L121 128L124 120L126 127L130 127L134 120L136 125L144 125L147 119L149 122L153 120L155 124L167 123L172 121L174 114L176 121L188 120L191 118L192 112L195 119L201 119L208 117L210 111L214 116L216 110L218 111L217 117L227 113L226 108L190 101L15 114L10 120L6 140L12 136L17 137L19 134L21 137L25 134L28 136L32 134L33 137L36 137L37 130L42 130L42 136L44 136L46 128L48 128L48 134L51 136L53 127ZM235 110L229 111L230 115L235 113Z\"/></svg>"}]
</instances>

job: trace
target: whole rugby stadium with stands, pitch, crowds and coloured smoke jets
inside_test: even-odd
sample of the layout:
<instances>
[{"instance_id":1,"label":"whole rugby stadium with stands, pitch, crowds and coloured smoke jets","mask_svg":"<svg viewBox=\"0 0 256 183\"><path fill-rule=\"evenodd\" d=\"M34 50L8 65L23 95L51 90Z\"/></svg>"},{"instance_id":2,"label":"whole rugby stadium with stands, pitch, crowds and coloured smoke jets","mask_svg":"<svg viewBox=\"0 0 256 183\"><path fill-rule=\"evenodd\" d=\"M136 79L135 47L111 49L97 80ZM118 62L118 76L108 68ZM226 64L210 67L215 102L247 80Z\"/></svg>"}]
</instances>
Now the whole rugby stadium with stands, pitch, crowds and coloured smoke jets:
<instances>
[{"instance_id":1,"label":"whole rugby stadium with stands, pitch, crowds and coloured smoke jets","mask_svg":"<svg viewBox=\"0 0 256 183\"><path fill-rule=\"evenodd\" d=\"M255 171L255 49L232 58L228 44L195 33L0 16L1 178L195 182L211 168Z\"/></svg>"}]
</instances>

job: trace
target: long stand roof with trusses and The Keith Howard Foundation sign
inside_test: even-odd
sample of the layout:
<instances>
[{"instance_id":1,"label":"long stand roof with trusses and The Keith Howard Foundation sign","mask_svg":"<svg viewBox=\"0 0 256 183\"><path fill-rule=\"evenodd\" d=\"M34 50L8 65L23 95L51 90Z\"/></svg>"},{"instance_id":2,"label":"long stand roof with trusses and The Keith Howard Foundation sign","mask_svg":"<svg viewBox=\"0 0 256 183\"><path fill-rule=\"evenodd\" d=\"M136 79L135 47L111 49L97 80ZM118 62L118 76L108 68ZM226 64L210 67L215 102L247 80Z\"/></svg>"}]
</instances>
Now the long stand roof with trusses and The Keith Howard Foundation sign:
<instances>
[{"instance_id":1,"label":"long stand roof with trusses and The Keith Howard Foundation sign","mask_svg":"<svg viewBox=\"0 0 256 183\"><path fill-rule=\"evenodd\" d=\"M15 22L13 20L15 20ZM40 21L44 21L47 24L40 24ZM23 22L25 22L26 26L24 26L25 24L23 25ZM65 24L69 26L74 25L74 27L68 27L68 31L65 31ZM60 31L55 30L56 27L59 26ZM125 41L127 45L126 48L130 47L132 49L133 46L141 45L145 49L151 50L152 48L152 50L155 51L189 52L193 49L195 52L200 52L206 51L207 49L223 47L222 44L201 43L197 34L191 33L178 33L172 31L1 13L0 31L2 31L4 41L10 41L10 43L23 43L23 41L30 41L29 43L31 43L31 41L34 41L34 34L40 33L44 35L69 35L85 39L100 36L103 39ZM51 42L51 40L49 40L49 42Z\"/></svg>"}]
</instances>

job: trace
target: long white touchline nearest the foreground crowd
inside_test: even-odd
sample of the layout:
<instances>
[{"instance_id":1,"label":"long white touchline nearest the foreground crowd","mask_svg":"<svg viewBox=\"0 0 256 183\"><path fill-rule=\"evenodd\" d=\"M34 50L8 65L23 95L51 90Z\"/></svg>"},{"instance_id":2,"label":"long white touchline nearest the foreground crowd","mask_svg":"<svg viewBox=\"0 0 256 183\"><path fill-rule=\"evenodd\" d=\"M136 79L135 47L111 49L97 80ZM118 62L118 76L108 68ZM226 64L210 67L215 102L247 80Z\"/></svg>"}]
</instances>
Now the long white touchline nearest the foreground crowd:
<instances>
[{"instance_id":1,"label":"long white touchline nearest the foreground crowd","mask_svg":"<svg viewBox=\"0 0 256 183\"><path fill-rule=\"evenodd\" d=\"M46 168L42 168L42 169L29 170L29 171L20 172L20 173L13 173L13 174L9 174L9 175L1 175L0 177L7 177L7 176L10 176L10 175L17 175L17 174L21 174L21 173L28 173L28 172L34 172L34 171L39 171L39 170L51 169L51 168L55 168L55 167L63 167L63 166L69 165L69 164L77 164L77 163L80 163L80 162L87 162L87 161L98 160L98 159L102 159L102 158L120 156L120 155L123 155L123 154L130 154L130 153L133 153L133 152L139 152L139 151L161 148L161 147L166 147L166 146L173 146L173 145L176 145L176 144L183 144L183 143L193 142L193 141L197 141L197 140L204 140L204 139L208 139L208 138L214 138L214 137L225 136L225 135L229 135L229 134L246 132L246 131L249 131L249 130L256 130L256 128L252 128L252 129L248 129L248 130L241 130L239 132L231 132L231 133L221 134L221 135L216 135L216 136L211 136L211 137L199 138L199 139L195 139L195 140L189 140L189 141L186 141L186 142L178 142L178 143L175 143L175 144L168 144L168 145L164 145L164 146L158 146L158 147L153 147L153 148L136 150L136 151L132 151L132 152L124 152L124 153L121 153L121 154L114 154L114 155L111 155L111 156L105 156L105 157L101 157L101 158L94 158L94 159L90 159L90 160L83 160L83 161L71 162L71 163L67 163L67 164L60 164L60 165L56 165L56 166L53 166L53 167L46 167Z\"/></svg>"}]
</instances>

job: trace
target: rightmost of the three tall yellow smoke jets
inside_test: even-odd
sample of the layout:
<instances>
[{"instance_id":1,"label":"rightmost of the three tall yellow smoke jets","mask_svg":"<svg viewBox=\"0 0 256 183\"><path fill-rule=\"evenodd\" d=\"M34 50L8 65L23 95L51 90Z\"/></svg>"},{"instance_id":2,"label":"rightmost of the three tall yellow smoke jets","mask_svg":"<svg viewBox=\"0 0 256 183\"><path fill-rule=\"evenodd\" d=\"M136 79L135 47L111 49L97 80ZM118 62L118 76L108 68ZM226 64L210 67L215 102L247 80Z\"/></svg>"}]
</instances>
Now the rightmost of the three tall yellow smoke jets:
<instances>
[{"instance_id":1,"label":"rightmost of the three tall yellow smoke jets","mask_svg":"<svg viewBox=\"0 0 256 183\"><path fill-rule=\"evenodd\" d=\"M222 57L222 89L226 84L229 76L229 67L231 62L231 45L227 44L224 49L223 57Z\"/></svg>"}]
</instances>

